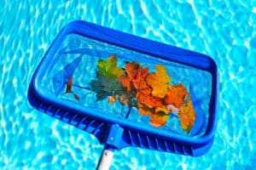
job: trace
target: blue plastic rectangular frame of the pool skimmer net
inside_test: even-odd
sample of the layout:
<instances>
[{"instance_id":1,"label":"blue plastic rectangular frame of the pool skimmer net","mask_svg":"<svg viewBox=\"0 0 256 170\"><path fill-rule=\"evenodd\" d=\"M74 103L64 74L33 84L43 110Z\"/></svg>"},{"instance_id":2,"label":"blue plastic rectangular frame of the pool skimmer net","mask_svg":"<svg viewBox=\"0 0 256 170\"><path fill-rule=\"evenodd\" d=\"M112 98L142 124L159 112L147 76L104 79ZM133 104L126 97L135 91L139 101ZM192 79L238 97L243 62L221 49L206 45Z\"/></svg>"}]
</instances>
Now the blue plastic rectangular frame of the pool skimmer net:
<instances>
[{"instance_id":1,"label":"blue plastic rectangular frame of the pool skimmer net","mask_svg":"<svg viewBox=\"0 0 256 170\"><path fill-rule=\"evenodd\" d=\"M52 56L55 55L65 37L72 33L209 72L212 75L212 95L206 133L199 138L191 138L177 133L166 133L155 127L145 127L139 123L134 124L116 117L105 116L103 112L94 110L94 108L84 111L83 106L74 106L45 94L44 90L38 86L38 82L42 81L45 70L50 69L49 65L54 60ZM113 148L118 150L127 146L137 146L189 156L201 156L210 149L217 126L218 68L215 62L204 54L172 47L142 37L135 37L124 32L113 31L84 21L73 21L62 29L44 55L44 59L32 77L28 99L39 111L44 111L63 122L92 133L102 144L112 145ZM193 103L193 105L195 104ZM109 140L108 137L113 132L119 132L119 136Z\"/></svg>"}]
</instances>

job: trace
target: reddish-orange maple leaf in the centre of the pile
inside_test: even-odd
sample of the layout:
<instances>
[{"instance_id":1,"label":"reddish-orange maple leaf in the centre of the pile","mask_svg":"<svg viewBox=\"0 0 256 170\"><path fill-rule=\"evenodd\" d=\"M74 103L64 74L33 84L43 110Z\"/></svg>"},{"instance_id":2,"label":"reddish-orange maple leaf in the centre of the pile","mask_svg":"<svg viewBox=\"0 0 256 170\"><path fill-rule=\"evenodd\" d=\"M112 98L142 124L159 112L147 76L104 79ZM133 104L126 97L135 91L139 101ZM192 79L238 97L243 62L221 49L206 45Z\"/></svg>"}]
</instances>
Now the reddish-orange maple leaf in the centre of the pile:
<instances>
[{"instance_id":1,"label":"reddish-orange maple leaf in the centre of the pile","mask_svg":"<svg viewBox=\"0 0 256 170\"><path fill-rule=\"evenodd\" d=\"M152 96L152 88L148 86L145 77L148 76L148 67L145 69L140 66L137 71L137 77L133 79L133 85L137 88L137 103L147 105L149 108L162 106L162 99Z\"/></svg>"}]
</instances>

